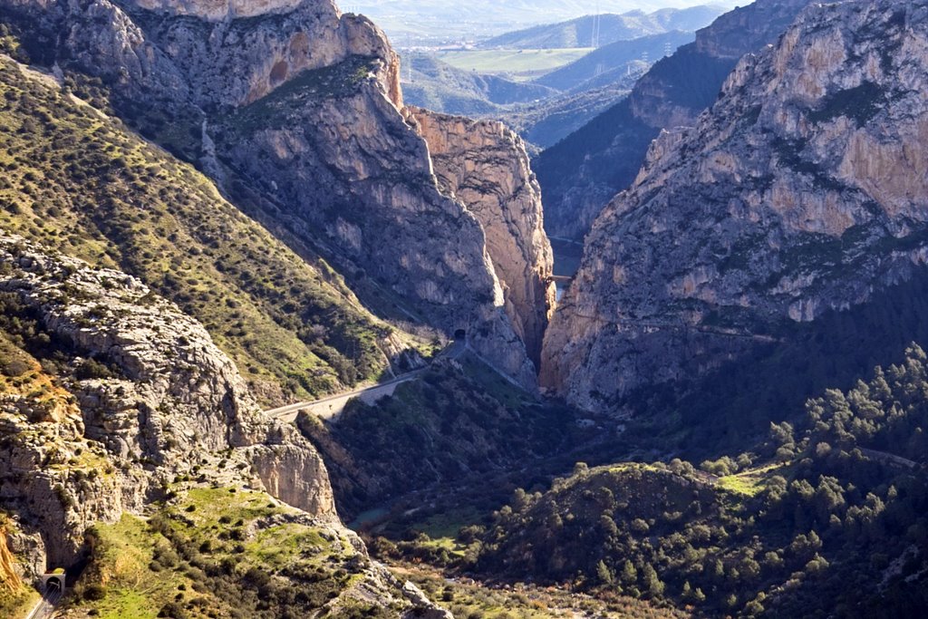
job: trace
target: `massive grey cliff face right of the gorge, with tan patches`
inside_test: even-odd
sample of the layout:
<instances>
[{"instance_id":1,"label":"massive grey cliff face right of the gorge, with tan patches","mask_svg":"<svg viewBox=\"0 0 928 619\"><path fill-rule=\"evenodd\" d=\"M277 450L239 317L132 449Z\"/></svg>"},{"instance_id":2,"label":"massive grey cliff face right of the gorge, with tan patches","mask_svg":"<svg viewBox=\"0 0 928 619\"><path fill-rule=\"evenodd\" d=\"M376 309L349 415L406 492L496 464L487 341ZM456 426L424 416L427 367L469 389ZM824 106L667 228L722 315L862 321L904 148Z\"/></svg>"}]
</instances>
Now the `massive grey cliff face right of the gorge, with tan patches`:
<instances>
[{"instance_id":1,"label":"massive grey cliff face right of the gorge, with tan patches","mask_svg":"<svg viewBox=\"0 0 928 619\"><path fill-rule=\"evenodd\" d=\"M589 408L866 302L925 247L928 11L810 6L602 213L543 380Z\"/></svg>"}]
</instances>

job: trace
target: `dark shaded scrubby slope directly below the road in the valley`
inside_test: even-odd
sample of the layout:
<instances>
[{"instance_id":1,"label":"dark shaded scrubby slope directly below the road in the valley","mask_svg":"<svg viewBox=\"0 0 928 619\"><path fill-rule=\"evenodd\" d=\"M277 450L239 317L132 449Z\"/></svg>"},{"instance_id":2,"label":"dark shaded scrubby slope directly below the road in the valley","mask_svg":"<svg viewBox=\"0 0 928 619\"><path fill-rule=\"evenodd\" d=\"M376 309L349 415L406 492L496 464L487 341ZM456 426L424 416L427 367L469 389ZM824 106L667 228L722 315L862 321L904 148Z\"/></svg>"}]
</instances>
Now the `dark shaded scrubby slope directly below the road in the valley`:
<instances>
[{"instance_id":1,"label":"dark shaded scrubby slope directly below the road in the valley","mask_svg":"<svg viewBox=\"0 0 928 619\"><path fill-rule=\"evenodd\" d=\"M299 419L327 456L342 514L551 456L572 440L569 409L535 401L468 356L461 363L433 364L375 406L354 400L329 425Z\"/></svg>"}]
</instances>

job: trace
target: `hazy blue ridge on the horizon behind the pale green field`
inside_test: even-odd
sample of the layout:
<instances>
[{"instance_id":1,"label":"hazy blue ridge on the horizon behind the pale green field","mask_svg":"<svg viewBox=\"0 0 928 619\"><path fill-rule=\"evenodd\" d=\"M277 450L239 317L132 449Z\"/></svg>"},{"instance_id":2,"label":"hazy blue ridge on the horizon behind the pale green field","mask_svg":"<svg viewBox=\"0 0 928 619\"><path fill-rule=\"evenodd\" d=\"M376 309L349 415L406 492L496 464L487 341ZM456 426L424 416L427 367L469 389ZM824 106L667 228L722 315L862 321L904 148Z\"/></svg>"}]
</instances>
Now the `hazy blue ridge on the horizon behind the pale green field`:
<instances>
[{"instance_id":1,"label":"hazy blue ridge on the horizon behind the pale green field","mask_svg":"<svg viewBox=\"0 0 928 619\"><path fill-rule=\"evenodd\" d=\"M612 45L666 32L695 32L708 26L724 11L722 6L690 6L664 8L653 13L633 10L621 15L586 15L561 23L507 32L484 41L481 46L511 49L593 47L593 32L597 29L598 45Z\"/></svg>"}]
</instances>

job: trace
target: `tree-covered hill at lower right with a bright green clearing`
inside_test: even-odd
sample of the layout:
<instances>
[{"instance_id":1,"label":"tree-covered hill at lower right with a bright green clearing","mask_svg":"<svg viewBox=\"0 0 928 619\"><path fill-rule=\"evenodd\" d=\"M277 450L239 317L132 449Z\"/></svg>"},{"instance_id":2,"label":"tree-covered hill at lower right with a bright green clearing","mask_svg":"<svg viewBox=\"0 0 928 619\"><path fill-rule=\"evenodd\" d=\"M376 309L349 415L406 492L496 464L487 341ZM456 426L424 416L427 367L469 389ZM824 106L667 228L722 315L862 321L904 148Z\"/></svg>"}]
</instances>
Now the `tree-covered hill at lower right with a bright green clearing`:
<instances>
[{"instance_id":1,"label":"tree-covered hill at lower right with a bright green clearing","mask_svg":"<svg viewBox=\"0 0 928 619\"><path fill-rule=\"evenodd\" d=\"M752 453L517 490L466 569L712 616L917 616L928 599L928 355L806 405ZM471 548L472 551L473 548ZM472 555L470 555L472 556Z\"/></svg>"}]
</instances>

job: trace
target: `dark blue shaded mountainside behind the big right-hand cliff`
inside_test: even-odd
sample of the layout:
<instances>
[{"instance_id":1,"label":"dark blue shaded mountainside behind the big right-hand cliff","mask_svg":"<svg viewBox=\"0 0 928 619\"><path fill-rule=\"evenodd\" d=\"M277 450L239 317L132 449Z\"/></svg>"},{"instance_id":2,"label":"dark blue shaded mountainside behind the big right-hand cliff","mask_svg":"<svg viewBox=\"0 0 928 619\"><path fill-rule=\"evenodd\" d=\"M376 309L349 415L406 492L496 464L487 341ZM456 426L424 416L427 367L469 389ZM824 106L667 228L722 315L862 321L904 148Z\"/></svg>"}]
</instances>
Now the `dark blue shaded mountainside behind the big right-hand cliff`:
<instances>
[{"instance_id":1,"label":"dark blue shaded mountainside behind the big right-hand cliff","mask_svg":"<svg viewBox=\"0 0 928 619\"><path fill-rule=\"evenodd\" d=\"M548 233L582 239L605 204L628 187L663 129L692 125L738 59L777 41L806 0L757 0L697 32L657 62L631 95L534 161Z\"/></svg>"}]
</instances>

